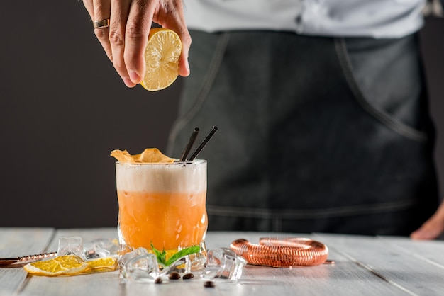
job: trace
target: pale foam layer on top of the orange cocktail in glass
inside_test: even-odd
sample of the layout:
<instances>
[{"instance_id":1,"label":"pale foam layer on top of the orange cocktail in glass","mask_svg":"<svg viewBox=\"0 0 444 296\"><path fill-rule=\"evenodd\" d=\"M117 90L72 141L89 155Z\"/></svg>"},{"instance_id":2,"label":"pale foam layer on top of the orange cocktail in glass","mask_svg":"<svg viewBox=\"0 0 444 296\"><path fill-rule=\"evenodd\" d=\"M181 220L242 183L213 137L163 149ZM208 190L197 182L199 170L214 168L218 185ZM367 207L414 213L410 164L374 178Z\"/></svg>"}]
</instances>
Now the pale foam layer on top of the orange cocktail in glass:
<instances>
[{"instance_id":1,"label":"pale foam layer on top of the orange cocktail in glass","mask_svg":"<svg viewBox=\"0 0 444 296\"><path fill-rule=\"evenodd\" d=\"M206 161L189 164L116 164L117 190L199 192L206 190Z\"/></svg>"}]
</instances>

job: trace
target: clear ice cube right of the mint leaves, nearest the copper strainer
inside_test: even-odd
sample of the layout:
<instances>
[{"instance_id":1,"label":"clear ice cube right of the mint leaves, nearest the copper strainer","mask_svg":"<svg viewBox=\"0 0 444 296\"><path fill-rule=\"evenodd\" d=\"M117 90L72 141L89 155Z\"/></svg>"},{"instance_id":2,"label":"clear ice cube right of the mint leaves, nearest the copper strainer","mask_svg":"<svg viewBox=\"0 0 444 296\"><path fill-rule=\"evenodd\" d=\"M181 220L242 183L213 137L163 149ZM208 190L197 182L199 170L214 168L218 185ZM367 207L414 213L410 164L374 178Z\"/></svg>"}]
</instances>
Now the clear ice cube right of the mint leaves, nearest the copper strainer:
<instances>
[{"instance_id":1,"label":"clear ice cube right of the mint leaves, nearest the copper strainer","mask_svg":"<svg viewBox=\"0 0 444 296\"><path fill-rule=\"evenodd\" d=\"M246 263L244 258L236 255L231 249L213 249L208 251L208 261L201 278L238 280Z\"/></svg>"}]
</instances>

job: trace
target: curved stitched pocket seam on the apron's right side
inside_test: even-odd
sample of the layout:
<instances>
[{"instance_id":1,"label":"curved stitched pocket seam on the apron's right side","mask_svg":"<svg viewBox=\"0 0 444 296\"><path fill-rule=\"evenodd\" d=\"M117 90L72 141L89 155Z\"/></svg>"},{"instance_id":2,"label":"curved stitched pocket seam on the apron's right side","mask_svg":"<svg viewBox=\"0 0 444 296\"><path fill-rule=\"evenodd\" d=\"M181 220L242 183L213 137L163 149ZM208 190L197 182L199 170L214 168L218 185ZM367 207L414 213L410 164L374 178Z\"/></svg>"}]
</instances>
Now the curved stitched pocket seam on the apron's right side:
<instances>
[{"instance_id":1,"label":"curved stitched pocket seam on the apron's right side","mask_svg":"<svg viewBox=\"0 0 444 296\"><path fill-rule=\"evenodd\" d=\"M424 132L415 130L408 125L404 125L404 123L394 120L394 118L387 114L387 112L381 110L377 106L373 106L369 101L367 101L365 96L360 91L360 88L357 85L356 79L351 70L352 67L350 64L350 60L348 59L347 47L343 38L335 38L335 49L338 55L340 67L343 69L345 80L347 81L348 86L350 86L351 91L355 95L356 101L360 103L360 106L362 106L364 110L370 113L370 115L372 115L374 118L377 118L377 120L379 120L382 124L386 125L395 132L398 132L399 134L410 138L411 140L424 142L428 139L427 135Z\"/></svg>"}]
</instances>

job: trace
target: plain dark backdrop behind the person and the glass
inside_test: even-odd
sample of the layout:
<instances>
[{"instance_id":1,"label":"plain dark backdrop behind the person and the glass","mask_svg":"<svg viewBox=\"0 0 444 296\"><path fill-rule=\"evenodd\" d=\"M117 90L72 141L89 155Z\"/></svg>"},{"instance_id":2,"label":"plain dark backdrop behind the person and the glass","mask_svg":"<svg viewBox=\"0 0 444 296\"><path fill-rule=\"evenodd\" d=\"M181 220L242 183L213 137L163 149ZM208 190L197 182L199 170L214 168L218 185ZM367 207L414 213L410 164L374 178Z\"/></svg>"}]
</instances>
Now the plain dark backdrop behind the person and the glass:
<instances>
[{"instance_id":1,"label":"plain dark backdrop behind the person and the glass","mask_svg":"<svg viewBox=\"0 0 444 296\"><path fill-rule=\"evenodd\" d=\"M126 88L82 1L1 1L0 28L0 227L116 226L109 153L165 151L182 80ZM421 39L444 188L444 20Z\"/></svg>"}]
</instances>

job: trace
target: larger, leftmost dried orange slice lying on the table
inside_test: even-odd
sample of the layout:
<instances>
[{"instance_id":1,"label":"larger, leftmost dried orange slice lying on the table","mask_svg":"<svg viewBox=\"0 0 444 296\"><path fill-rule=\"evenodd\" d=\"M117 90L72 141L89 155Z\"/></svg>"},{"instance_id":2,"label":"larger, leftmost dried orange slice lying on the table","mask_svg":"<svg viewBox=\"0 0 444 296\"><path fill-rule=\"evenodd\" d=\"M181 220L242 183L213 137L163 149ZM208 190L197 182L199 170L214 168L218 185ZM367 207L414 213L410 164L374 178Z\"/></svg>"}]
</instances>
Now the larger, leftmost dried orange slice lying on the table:
<instances>
[{"instance_id":1,"label":"larger, leftmost dried orange slice lying on the table","mask_svg":"<svg viewBox=\"0 0 444 296\"><path fill-rule=\"evenodd\" d=\"M88 268L82 258L77 255L58 256L46 261L37 261L23 266L28 273L33 275L74 275L82 273Z\"/></svg>"}]
</instances>

